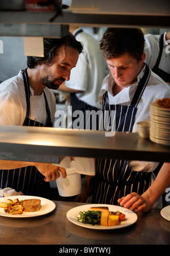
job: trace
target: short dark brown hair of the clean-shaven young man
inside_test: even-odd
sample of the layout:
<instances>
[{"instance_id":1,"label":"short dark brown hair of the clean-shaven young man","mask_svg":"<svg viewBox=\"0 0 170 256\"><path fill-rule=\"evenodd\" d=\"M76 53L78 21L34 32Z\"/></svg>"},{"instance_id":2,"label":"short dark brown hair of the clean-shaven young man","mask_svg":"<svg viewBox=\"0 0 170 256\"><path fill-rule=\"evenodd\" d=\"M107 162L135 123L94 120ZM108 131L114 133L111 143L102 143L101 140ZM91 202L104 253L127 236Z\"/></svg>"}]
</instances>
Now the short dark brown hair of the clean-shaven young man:
<instances>
[{"instance_id":1,"label":"short dark brown hair of the clean-shaven young man","mask_svg":"<svg viewBox=\"0 0 170 256\"><path fill-rule=\"evenodd\" d=\"M107 28L100 40L101 52L108 60L128 52L139 61L144 46L145 38L140 28Z\"/></svg>"}]
</instances>

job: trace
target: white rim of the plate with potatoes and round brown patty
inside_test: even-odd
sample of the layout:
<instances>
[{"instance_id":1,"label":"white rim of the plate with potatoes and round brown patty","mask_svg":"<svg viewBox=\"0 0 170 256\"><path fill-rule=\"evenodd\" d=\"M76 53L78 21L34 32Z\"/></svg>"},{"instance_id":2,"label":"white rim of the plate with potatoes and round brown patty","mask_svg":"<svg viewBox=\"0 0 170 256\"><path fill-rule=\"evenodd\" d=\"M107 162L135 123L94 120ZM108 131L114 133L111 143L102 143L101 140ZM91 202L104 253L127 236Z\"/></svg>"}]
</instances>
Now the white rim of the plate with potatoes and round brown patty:
<instances>
[{"instance_id":1,"label":"white rim of the plate with potatoes and round brown patty","mask_svg":"<svg viewBox=\"0 0 170 256\"><path fill-rule=\"evenodd\" d=\"M10 218L31 218L31 217L39 217L42 215L45 215L47 213L52 212L55 208L56 208L56 204L49 200L46 199L44 197L40 197L40 196L25 196L25 195L16 195L16 196L5 196L5 197L0 197L0 202L5 202L5 200L7 199L16 199L18 198L19 200L22 200L22 198L24 199L40 199L41 203L49 203L49 206L47 209L44 210L38 210L37 212L23 212L22 214L8 214L8 213L2 213L0 212L0 216L2 217L10 217Z\"/></svg>"}]
</instances>

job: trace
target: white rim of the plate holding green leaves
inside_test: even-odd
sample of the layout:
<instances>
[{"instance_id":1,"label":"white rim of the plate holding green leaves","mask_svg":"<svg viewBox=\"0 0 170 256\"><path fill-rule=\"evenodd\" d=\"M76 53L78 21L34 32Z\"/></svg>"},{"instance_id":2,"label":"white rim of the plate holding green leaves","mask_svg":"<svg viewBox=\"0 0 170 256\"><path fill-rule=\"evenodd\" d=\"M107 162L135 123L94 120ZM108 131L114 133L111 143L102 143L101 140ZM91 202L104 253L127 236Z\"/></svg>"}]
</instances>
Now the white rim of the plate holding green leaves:
<instances>
[{"instance_id":1,"label":"white rim of the plate holding green leaves","mask_svg":"<svg viewBox=\"0 0 170 256\"><path fill-rule=\"evenodd\" d=\"M88 209L83 209L83 207L85 208L89 208L90 207L114 207L117 208L115 210L121 209L122 213L125 213L125 215L127 214L127 212L133 214L133 216L135 217L134 220L132 222L126 222L126 224L120 224L120 225L116 225L116 226L97 226L97 225L90 225L90 224L83 224L82 222L76 221L75 218L71 218L70 217L70 213L72 213L74 210L78 210L78 213L80 212L80 210L88 210ZM113 209L111 209L110 211L113 211ZM78 214L76 214L78 216ZM118 206L118 205L112 205L112 204L85 204L85 205L79 205L78 207L74 207L71 208L70 210L68 210L67 214L66 214L67 219L72 222L73 224L77 225L77 226L82 226L83 228L88 228L88 229L97 229L97 230L109 230L109 229L120 229L120 228L126 228L127 226L133 225L137 220L138 220L138 216L136 213L134 213L132 210L129 210L127 208ZM123 222L123 221L122 221Z\"/></svg>"}]
</instances>

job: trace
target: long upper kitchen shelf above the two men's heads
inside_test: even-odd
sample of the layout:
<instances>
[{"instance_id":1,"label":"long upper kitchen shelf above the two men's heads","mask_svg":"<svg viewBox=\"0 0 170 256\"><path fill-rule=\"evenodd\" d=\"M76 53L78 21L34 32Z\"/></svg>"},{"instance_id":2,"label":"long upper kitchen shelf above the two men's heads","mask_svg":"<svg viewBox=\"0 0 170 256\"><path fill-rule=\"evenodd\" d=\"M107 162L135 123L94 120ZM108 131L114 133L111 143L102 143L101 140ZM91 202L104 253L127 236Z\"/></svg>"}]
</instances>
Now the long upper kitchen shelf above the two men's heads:
<instances>
[{"instance_id":1,"label":"long upper kitchen shelf above the two men's heads","mask_svg":"<svg viewBox=\"0 0 170 256\"><path fill-rule=\"evenodd\" d=\"M167 7L168 8L168 7ZM167 9L168 10L168 9ZM30 24L56 24L88 27L149 27L149 28L169 28L170 14L112 14L112 13L74 13L71 10L63 10L63 15L58 16L53 22L49 20L54 16L53 12L39 11L0 11L0 23L6 26L6 31L14 23Z\"/></svg>"}]
</instances>

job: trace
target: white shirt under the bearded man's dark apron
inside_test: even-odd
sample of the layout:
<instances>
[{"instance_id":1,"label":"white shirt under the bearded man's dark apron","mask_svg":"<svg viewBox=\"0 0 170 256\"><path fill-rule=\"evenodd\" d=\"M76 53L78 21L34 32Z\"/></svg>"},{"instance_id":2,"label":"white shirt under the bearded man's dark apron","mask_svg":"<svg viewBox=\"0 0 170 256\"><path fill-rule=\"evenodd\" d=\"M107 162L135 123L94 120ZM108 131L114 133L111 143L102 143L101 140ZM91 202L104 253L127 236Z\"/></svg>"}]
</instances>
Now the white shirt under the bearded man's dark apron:
<instances>
[{"instance_id":1,"label":"white shirt under the bearded man's dark apron","mask_svg":"<svg viewBox=\"0 0 170 256\"><path fill-rule=\"evenodd\" d=\"M51 120L54 122L56 101L52 90L45 88ZM33 89L30 87L30 109L29 118L37 122L46 123L46 108L44 93L33 96ZM27 111L23 71L0 84L0 125L23 125Z\"/></svg>"}]
</instances>

